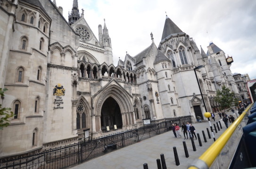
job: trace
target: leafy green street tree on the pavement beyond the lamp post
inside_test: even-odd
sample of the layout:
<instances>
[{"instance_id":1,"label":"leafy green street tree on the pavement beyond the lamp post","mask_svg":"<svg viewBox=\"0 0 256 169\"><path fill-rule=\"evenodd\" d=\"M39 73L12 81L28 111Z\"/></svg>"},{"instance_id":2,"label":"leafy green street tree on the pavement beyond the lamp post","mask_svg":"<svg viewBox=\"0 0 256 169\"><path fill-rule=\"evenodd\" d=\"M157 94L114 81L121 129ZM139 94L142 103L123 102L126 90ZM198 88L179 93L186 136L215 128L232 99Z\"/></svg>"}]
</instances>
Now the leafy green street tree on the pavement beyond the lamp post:
<instances>
[{"instance_id":1,"label":"leafy green street tree on the pavement beyond the lamp post","mask_svg":"<svg viewBox=\"0 0 256 169\"><path fill-rule=\"evenodd\" d=\"M222 90L217 90L214 100L219 103L220 109L224 112L231 110L238 103L238 100L234 97L234 92L230 92L230 89L226 86L223 86Z\"/></svg>"}]
</instances>

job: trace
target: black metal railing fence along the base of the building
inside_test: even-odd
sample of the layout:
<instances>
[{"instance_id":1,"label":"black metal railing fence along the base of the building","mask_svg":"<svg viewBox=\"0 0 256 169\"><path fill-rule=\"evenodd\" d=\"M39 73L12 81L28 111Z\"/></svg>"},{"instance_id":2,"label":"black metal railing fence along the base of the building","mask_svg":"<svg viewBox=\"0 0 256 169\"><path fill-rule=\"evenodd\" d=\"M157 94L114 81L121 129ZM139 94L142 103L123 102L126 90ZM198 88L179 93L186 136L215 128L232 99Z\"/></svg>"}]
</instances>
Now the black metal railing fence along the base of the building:
<instances>
[{"instance_id":1,"label":"black metal railing fence along the base of the building","mask_svg":"<svg viewBox=\"0 0 256 169\"><path fill-rule=\"evenodd\" d=\"M82 141L69 146L45 150L33 155L19 155L0 159L0 169L62 169L88 161L95 157L137 143L141 140L168 131L172 123L181 125L190 121L190 116L168 119L168 121L145 125L139 129L125 131L95 140Z\"/></svg>"}]
</instances>

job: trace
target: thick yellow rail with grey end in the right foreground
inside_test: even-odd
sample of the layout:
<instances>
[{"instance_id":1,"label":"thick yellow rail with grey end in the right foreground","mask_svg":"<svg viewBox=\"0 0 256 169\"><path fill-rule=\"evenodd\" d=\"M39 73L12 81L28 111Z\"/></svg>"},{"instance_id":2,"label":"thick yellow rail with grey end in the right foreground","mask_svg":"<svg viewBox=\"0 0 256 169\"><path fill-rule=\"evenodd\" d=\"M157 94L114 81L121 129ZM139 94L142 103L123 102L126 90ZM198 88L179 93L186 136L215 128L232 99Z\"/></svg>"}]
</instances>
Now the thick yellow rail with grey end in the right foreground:
<instances>
[{"instance_id":1,"label":"thick yellow rail with grey end in the right foreground","mask_svg":"<svg viewBox=\"0 0 256 169\"><path fill-rule=\"evenodd\" d=\"M244 110L244 112L239 115L237 120L232 123L226 131L202 154L198 160L189 165L188 169L208 169L212 163L215 161L217 156L221 153L223 147L228 142L229 138L232 136L233 132L236 130L237 126L241 123L244 116L247 114L248 110L251 108L253 104L249 105L248 108ZM206 167L207 166L207 167Z\"/></svg>"}]
</instances>

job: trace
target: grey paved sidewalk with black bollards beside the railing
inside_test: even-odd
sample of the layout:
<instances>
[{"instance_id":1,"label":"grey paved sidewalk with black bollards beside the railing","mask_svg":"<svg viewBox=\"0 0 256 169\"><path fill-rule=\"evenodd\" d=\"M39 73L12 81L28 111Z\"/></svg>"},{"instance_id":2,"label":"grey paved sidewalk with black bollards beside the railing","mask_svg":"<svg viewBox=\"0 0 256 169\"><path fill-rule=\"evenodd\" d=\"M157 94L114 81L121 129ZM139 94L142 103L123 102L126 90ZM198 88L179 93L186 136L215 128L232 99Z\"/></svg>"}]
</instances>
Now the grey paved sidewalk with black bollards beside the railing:
<instances>
[{"instance_id":1,"label":"grey paved sidewalk with black bollards beside the railing","mask_svg":"<svg viewBox=\"0 0 256 169\"><path fill-rule=\"evenodd\" d=\"M227 113L227 115L233 115L232 113ZM237 119L236 115L233 115ZM217 129L215 133L215 138L217 139L225 130L226 127L220 119L219 115L215 115L215 122L211 119L212 125L222 123L222 128L220 131ZM230 125L231 123L229 123ZM165 162L167 169L187 169L188 165L197 159L201 154L203 154L206 149L211 146L214 142L213 138L209 139L206 128L209 129L209 123L193 123L196 128L196 133L200 134L200 138L203 146L199 146L198 139L194 140L197 151L193 151L191 140L185 139L182 133L182 138L174 138L173 131L168 131L163 134L154 136L135 143L130 146L118 149L111 153L105 154L98 158L94 158L90 161L86 161L82 164L70 167L72 169L143 169L143 164L148 163L149 169L157 169L157 159L160 159L160 154L165 155ZM180 126L181 127L181 126ZM217 127L217 126L216 126ZM213 126L214 129L214 126ZM205 132L207 142L204 142L202 131ZM211 131L210 131L211 134ZM211 135L212 137L212 135ZM189 152L189 157L185 157L183 141L186 141L186 145ZM176 146L177 153L179 156L180 165L176 166L173 154L173 146Z\"/></svg>"}]
</instances>

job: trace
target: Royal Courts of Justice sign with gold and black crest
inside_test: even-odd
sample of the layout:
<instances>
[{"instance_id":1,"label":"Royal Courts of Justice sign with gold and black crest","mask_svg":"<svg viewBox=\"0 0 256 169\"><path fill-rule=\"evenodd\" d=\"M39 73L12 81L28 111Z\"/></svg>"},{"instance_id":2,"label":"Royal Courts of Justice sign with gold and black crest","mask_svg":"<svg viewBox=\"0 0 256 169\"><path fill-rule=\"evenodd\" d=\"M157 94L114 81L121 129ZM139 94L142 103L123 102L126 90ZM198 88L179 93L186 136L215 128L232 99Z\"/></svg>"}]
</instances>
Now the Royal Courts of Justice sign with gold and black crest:
<instances>
[{"instance_id":1,"label":"Royal Courts of Justice sign with gold and black crest","mask_svg":"<svg viewBox=\"0 0 256 169\"><path fill-rule=\"evenodd\" d=\"M54 107L53 109L63 109L63 99L61 96L65 95L65 89L63 87L63 85L61 84L57 84L54 88L53 88L53 95L56 96L56 98L54 99Z\"/></svg>"}]
</instances>

